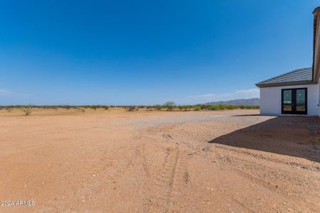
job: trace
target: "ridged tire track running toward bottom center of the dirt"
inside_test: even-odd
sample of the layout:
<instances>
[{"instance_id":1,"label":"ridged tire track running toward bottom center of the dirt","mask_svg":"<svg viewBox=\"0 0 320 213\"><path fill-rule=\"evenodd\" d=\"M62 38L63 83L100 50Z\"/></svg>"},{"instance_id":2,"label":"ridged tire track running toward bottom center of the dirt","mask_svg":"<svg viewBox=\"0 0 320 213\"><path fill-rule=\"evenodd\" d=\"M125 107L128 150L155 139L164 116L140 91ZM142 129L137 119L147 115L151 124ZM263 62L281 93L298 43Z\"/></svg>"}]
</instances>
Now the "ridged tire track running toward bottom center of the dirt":
<instances>
[{"instance_id":1,"label":"ridged tire track running toward bottom center of the dirt","mask_svg":"<svg viewBox=\"0 0 320 213\"><path fill-rule=\"evenodd\" d=\"M147 212L169 212L172 191L188 185L186 168L186 153L178 148L166 148L166 158L162 170L154 179L154 192L152 192Z\"/></svg>"}]
</instances>

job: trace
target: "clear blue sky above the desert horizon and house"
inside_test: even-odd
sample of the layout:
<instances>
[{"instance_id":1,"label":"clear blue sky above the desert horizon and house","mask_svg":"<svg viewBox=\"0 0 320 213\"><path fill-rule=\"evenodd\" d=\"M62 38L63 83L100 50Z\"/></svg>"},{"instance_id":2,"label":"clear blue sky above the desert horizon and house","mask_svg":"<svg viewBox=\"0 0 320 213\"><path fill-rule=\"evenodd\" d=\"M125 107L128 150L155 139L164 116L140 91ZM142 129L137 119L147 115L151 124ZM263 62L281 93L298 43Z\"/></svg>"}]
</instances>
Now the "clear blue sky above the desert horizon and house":
<instances>
[{"instance_id":1,"label":"clear blue sky above the desert horizon and house","mask_svg":"<svg viewBox=\"0 0 320 213\"><path fill-rule=\"evenodd\" d=\"M320 1L0 1L0 104L258 97L312 63Z\"/></svg>"}]
</instances>

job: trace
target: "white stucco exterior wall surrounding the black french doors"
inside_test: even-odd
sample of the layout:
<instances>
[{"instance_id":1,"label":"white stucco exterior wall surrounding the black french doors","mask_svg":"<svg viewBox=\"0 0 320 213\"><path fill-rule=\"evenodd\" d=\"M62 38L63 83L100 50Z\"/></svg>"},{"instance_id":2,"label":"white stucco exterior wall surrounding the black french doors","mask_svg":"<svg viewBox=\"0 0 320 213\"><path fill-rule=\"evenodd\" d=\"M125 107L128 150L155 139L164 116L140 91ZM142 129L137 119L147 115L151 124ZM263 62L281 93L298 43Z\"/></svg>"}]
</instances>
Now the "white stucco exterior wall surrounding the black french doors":
<instances>
[{"instance_id":1,"label":"white stucco exterior wall surrounding the black french doors","mask_svg":"<svg viewBox=\"0 0 320 213\"><path fill-rule=\"evenodd\" d=\"M307 88L307 112L308 115L320 116L319 84L297 85L286 87L262 87L260 88L260 113L261 114L281 114L281 92L282 89Z\"/></svg>"}]
</instances>

